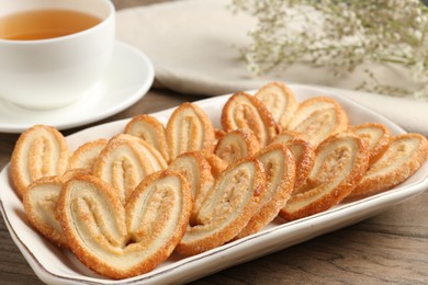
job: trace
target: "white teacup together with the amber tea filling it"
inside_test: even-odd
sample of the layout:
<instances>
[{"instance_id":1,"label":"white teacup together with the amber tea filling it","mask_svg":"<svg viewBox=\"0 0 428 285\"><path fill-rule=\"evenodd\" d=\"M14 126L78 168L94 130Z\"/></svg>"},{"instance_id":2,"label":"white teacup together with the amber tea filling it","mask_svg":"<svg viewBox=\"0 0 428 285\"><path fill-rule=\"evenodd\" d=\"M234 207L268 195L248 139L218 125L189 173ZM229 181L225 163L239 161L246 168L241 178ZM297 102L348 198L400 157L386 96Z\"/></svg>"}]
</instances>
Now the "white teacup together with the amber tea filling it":
<instances>
[{"instance_id":1,"label":"white teacup together with the amber tea filling it","mask_svg":"<svg viewBox=\"0 0 428 285\"><path fill-rule=\"evenodd\" d=\"M44 111L97 95L114 12L110 0L0 0L0 104Z\"/></svg>"}]
</instances>

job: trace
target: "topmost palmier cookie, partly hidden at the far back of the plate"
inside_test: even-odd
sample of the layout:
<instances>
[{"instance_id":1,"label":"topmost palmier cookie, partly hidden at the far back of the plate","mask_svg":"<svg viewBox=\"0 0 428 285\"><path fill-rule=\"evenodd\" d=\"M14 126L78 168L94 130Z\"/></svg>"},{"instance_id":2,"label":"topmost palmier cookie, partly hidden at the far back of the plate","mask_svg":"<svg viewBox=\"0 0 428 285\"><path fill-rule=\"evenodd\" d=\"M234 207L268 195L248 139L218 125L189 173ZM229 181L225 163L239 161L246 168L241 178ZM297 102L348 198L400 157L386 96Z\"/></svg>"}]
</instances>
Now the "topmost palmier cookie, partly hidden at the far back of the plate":
<instances>
[{"instance_id":1,"label":"topmost palmier cookie, partly hidden at the far back of the plate","mask_svg":"<svg viewBox=\"0 0 428 285\"><path fill-rule=\"evenodd\" d=\"M285 129L299 106L294 92L284 83L270 82L259 89L255 96L266 105L280 127Z\"/></svg>"}]
</instances>

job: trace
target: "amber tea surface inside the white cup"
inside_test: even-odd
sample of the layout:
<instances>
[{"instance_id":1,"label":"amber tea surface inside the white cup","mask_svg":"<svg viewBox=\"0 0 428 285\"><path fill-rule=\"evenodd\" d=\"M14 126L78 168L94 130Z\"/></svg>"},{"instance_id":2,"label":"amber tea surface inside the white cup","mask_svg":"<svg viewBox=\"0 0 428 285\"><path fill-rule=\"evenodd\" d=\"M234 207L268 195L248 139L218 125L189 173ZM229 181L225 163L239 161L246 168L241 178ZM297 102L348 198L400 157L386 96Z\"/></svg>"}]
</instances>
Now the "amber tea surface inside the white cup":
<instances>
[{"instance_id":1,"label":"amber tea surface inside the white cup","mask_svg":"<svg viewBox=\"0 0 428 285\"><path fill-rule=\"evenodd\" d=\"M101 19L72 10L34 10L0 18L0 38L44 39L88 30Z\"/></svg>"}]
</instances>

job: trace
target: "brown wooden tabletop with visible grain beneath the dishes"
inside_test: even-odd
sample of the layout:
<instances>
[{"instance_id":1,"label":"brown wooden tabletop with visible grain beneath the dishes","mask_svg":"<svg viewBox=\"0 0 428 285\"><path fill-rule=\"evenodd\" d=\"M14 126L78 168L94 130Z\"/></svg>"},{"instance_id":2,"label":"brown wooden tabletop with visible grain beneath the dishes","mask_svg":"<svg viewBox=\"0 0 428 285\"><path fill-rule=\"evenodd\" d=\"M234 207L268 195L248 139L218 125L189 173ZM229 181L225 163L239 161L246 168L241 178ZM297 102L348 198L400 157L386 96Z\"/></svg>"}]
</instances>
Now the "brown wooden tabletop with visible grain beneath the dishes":
<instances>
[{"instance_id":1,"label":"brown wooden tabletop with visible grain beneath the dishes","mask_svg":"<svg viewBox=\"0 0 428 285\"><path fill-rule=\"evenodd\" d=\"M115 1L122 9L144 0ZM158 1L145 1L158 2ZM100 123L151 113L202 96L153 89ZM94 124L92 124L94 125ZM88 126L68 129L72 134ZM0 169L18 135L0 133ZM1 191L1 190L0 190ZM341 230L224 270L195 284L428 284L428 192ZM0 284L42 284L0 219Z\"/></svg>"}]
</instances>

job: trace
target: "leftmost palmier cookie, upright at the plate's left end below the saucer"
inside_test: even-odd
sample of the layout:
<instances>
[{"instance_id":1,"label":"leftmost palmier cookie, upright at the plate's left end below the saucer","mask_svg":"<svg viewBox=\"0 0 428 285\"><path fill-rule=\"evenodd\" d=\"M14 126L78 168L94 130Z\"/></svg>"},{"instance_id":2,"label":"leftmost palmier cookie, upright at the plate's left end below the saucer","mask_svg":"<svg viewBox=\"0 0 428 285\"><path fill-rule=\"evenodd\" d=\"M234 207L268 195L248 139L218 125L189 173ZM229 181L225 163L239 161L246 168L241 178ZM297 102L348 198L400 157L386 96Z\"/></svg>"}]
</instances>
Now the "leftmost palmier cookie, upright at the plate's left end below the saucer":
<instances>
[{"instance_id":1,"label":"leftmost palmier cookie, upright at the plate's left end below the saucer","mask_svg":"<svg viewBox=\"0 0 428 285\"><path fill-rule=\"evenodd\" d=\"M61 175L68 163L68 146L54 127L35 125L25 130L12 152L10 178L20 197L26 186L44 176Z\"/></svg>"}]
</instances>

